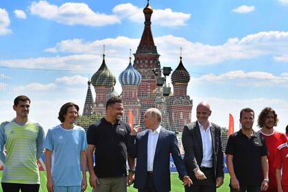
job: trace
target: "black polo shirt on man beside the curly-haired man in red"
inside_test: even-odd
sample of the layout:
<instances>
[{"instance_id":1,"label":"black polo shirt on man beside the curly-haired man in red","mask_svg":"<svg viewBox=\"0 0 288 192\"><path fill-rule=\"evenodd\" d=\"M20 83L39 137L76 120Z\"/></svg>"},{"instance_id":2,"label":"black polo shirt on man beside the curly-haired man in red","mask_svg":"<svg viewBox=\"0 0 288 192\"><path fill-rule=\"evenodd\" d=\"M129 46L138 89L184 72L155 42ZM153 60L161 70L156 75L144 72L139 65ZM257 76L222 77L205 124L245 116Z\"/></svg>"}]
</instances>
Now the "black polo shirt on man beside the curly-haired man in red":
<instances>
[{"instance_id":1,"label":"black polo shirt on man beside the curly-haired man in red","mask_svg":"<svg viewBox=\"0 0 288 192\"><path fill-rule=\"evenodd\" d=\"M229 136L226 154L233 156L234 171L240 187L261 184L261 157L267 156L263 136L253 131L249 139L239 130Z\"/></svg>"}]
</instances>

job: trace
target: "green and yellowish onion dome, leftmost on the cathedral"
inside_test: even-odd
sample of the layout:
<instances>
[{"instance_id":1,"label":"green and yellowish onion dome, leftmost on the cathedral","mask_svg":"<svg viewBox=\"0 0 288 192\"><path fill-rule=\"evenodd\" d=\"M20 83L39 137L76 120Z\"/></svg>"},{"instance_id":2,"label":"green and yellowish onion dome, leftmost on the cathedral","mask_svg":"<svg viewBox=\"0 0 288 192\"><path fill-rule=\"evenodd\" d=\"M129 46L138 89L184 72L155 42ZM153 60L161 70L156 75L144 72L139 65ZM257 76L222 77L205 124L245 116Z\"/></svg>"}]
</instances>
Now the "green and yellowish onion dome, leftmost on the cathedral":
<instances>
[{"instance_id":1,"label":"green and yellowish onion dome, leftmost on the cathedral","mask_svg":"<svg viewBox=\"0 0 288 192\"><path fill-rule=\"evenodd\" d=\"M111 71L109 71L108 67L106 66L104 54L101 67L92 76L91 84L93 84L93 86L106 86L106 87L115 86L116 84L115 76L112 74Z\"/></svg>"}]
</instances>

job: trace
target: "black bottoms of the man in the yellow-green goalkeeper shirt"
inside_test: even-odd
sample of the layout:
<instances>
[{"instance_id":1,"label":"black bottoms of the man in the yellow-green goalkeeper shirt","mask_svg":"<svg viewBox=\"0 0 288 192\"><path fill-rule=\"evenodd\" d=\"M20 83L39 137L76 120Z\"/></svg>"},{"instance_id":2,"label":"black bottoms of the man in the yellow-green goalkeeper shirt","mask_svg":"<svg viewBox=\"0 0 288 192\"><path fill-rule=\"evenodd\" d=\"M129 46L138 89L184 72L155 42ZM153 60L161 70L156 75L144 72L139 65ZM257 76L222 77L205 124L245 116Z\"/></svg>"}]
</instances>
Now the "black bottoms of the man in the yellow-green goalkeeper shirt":
<instances>
[{"instance_id":1,"label":"black bottoms of the man in the yellow-green goalkeeper shirt","mask_svg":"<svg viewBox=\"0 0 288 192\"><path fill-rule=\"evenodd\" d=\"M21 183L1 183L3 192L38 192L40 184L21 184Z\"/></svg>"}]
</instances>

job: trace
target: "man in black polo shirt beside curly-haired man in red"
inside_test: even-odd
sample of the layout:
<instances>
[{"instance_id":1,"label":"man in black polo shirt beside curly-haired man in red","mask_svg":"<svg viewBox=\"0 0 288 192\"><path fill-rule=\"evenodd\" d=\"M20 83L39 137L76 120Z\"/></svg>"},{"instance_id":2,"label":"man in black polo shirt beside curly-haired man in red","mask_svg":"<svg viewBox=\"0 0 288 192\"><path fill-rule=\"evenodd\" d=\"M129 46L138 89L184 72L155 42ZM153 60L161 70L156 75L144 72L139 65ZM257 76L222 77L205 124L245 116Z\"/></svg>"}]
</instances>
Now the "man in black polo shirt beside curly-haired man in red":
<instances>
[{"instance_id":1,"label":"man in black polo shirt beside curly-haired man in red","mask_svg":"<svg viewBox=\"0 0 288 192\"><path fill-rule=\"evenodd\" d=\"M231 134L226 147L226 163L231 192L259 192L268 188L267 147L263 136L252 130L254 111L240 112L241 130ZM261 171L264 180L261 182Z\"/></svg>"}]
</instances>

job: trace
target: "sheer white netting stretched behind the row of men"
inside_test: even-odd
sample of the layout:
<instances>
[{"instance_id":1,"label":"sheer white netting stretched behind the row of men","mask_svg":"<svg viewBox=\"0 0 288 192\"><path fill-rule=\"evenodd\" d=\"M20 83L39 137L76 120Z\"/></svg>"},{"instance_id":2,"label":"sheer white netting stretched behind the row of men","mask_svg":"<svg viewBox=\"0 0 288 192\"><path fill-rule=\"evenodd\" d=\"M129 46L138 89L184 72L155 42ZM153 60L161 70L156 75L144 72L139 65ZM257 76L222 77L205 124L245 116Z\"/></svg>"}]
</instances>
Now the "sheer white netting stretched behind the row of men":
<instances>
[{"instance_id":1,"label":"sheer white netting stretched behind the row of men","mask_svg":"<svg viewBox=\"0 0 288 192\"><path fill-rule=\"evenodd\" d=\"M32 100L30 117L42 123L45 130L60 123L57 119L60 106L68 101L80 106L82 117L78 123L88 128L88 125L105 114L106 100L112 95L121 95L124 104L123 121L143 126L143 112L156 106L163 112L163 125L168 130L178 132L178 137L185 124L196 120L197 104L202 100L208 101L212 109L210 120L223 128L224 149L229 114L234 117L237 131L241 108L254 109L257 118L263 108L271 106L280 119L277 129L283 131L287 123L288 91L285 78L259 79L188 71L191 76L188 86L184 82L175 83L177 76L174 75L172 81L168 76L166 85L171 86L172 92L169 96L163 96L164 90L156 86L155 79L142 79L139 86L122 87L118 79L122 71L112 69L110 72L117 81L114 87L101 84L105 80L99 79L101 86L95 87L92 82L88 90L88 77L97 70L56 71L0 67L0 121L14 117L12 105L16 96L27 95ZM256 122L254 127L258 130Z\"/></svg>"}]
</instances>

